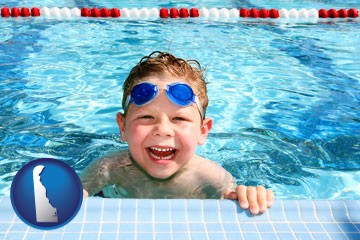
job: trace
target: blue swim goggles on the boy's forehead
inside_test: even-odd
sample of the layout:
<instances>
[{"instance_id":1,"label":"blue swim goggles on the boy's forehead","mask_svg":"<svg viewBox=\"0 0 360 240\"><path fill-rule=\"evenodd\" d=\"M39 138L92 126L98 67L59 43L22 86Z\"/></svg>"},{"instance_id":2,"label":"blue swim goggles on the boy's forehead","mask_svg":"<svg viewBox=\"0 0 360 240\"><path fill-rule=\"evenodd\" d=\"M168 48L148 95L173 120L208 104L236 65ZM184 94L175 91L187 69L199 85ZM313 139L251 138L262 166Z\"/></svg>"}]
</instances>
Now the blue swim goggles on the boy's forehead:
<instances>
[{"instance_id":1,"label":"blue swim goggles on the boy's forehead","mask_svg":"<svg viewBox=\"0 0 360 240\"><path fill-rule=\"evenodd\" d=\"M180 107L187 107L195 103L200 111L201 118L204 119L204 109L201 106L199 98L194 94L191 87L185 83L172 83L166 86L166 96L168 99ZM159 89L155 84L143 82L136 85L131 94L127 96L124 110L127 109L130 103L136 106L144 106L156 98Z\"/></svg>"}]
</instances>

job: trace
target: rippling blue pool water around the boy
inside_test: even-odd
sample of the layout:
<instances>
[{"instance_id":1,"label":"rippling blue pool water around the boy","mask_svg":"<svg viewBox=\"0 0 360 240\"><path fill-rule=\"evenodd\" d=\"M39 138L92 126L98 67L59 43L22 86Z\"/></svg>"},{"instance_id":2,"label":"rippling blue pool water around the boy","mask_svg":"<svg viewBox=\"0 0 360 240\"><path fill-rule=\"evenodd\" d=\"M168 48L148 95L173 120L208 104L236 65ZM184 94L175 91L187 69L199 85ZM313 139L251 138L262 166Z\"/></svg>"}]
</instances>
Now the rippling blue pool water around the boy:
<instances>
[{"instance_id":1,"label":"rippling blue pool water around the boy","mask_svg":"<svg viewBox=\"0 0 360 240\"><path fill-rule=\"evenodd\" d=\"M5 1L3 6L21 6ZM357 1L26 1L31 6L351 8ZM0 196L27 162L80 172L126 148L115 114L154 50L207 68L215 126L198 153L278 199L360 198L359 20L0 19Z\"/></svg>"}]
</instances>

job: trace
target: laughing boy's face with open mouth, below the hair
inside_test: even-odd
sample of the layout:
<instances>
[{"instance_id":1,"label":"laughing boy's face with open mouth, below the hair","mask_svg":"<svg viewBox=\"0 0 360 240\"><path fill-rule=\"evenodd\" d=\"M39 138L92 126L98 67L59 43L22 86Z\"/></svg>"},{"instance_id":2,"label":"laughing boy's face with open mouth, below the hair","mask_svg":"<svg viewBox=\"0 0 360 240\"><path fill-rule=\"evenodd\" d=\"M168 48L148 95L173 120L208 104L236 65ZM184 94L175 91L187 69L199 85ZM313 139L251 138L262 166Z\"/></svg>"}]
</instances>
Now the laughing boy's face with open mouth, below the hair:
<instances>
[{"instance_id":1,"label":"laughing boy's face with open mouth, below the hair","mask_svg":"<svg viewBox=\"0 0 360 240\"><path fill-rule=\"evenodd\" d=\"M164 89L184 79L169 76L145 78L141 82ZM117 115L121 139L127 141L133 159L154 178L165 179L190 161L198 144L203 144L212 127L209 118L201 121L196 104L180 107L173 104L164 90L144 106L130 104L126 117Z\"/></svg>"}]
</instances>

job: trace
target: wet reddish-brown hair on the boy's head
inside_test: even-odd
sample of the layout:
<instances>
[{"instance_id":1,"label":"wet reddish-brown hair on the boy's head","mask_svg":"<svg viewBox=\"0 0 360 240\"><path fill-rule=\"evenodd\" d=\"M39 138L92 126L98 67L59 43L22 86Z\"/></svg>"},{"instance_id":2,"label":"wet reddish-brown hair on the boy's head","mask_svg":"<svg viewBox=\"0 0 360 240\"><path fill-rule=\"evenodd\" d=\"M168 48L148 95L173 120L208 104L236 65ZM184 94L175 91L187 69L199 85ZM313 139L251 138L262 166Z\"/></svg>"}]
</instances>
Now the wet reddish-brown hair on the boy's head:
<instances>
[{"instance_id":1,"label":"wet reddish-brown hair on the boy's head","mask_svg":"<svg viewBox=\"0 0 360 240\"><path fill-rule=\"evenodd\" d=\"M205 70L196 60L184 60L177 58L167 52L152 52L149 56L143 57L130 71L129 76L123 84L123 110L127 96L130 95L135 85L144 78L152 76L170 75L184 79L193 89L204 109L208 106L207 88L205 82Z\"/></svg>"}]
</instances>

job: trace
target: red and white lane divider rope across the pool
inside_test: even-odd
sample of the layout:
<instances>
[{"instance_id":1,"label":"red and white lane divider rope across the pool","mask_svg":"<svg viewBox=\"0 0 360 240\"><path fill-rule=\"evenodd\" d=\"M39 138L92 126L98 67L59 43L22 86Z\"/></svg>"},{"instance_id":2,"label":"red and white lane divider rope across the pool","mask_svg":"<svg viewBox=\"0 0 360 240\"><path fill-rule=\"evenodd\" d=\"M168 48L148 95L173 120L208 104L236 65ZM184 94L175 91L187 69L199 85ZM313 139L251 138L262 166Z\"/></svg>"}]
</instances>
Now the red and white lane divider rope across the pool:
<instances>
[{"instance_id":1,"label":"red and white lane divider rope across the pool","mask_svg":"<svg viewBox=\"0 0 360 240\"><path fill-rule=\"evenodd\" d=\"M228 18L283 18L283 19L316 19L316 18L358 18L359 11L356 8L350 9L226 9L226 8L58 8L58 7L2 7L1 17L92 17L92 18L209 18L209 19L228 19Z\"/></svg>"}]
</instances>

